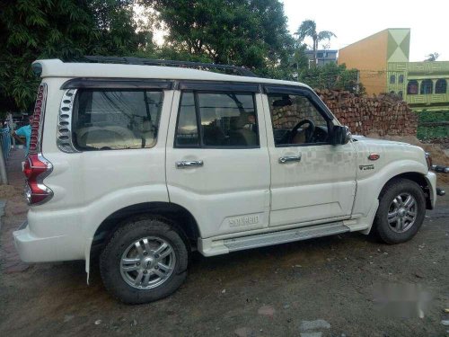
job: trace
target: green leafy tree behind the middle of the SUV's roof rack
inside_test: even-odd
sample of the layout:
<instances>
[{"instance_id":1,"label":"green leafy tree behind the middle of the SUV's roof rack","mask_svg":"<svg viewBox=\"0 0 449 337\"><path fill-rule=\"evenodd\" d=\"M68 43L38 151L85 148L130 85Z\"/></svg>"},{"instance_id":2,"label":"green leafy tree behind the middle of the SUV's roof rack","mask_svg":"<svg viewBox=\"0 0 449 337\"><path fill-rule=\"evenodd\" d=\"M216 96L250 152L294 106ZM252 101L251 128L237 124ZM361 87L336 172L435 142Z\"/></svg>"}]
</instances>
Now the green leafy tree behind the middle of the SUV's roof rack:
<instances>
[{"instance_id":1,"label":"green leafy tree behind the middle of the SUV's roof rack","mask_svg":"<svg viewBox=\"0 0 449 337\"><path fill-rule=\"evenodd\" d=\"M285 75L294 40L278 0L144 0L168 29L164 48Z\"/></svg>"}]
</instances>

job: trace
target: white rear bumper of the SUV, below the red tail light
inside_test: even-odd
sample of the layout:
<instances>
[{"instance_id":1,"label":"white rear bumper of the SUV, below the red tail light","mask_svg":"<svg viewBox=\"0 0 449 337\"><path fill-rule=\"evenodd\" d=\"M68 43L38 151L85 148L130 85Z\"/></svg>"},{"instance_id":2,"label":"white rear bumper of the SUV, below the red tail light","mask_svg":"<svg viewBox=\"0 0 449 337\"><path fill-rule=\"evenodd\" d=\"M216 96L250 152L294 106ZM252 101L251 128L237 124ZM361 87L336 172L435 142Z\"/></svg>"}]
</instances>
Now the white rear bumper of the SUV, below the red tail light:
<instances>
[{"instance_id":1,"label":"white rear bumper of the SUV, below the red tail light","mask_svg":"<svg viewBox=\"0 0 449 337\"><path fill-rule=\"evenodd\" d=\"M31 231L28 221L23 222L13 232L13 241L23 262L84 260L84 255L75 253L70 249L66 235L39 237Z\"/></svg>"}]
</instances>

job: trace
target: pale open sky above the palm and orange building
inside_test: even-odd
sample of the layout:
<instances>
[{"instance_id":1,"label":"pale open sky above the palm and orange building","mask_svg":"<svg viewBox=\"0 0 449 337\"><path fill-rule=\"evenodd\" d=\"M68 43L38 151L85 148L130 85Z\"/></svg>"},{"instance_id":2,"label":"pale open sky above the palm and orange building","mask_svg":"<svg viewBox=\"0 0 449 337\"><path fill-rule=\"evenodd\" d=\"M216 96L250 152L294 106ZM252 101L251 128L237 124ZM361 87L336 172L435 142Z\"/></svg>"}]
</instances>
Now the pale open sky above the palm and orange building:
<instances>
[{"instance_id":1,"label":"pale open sky above the palm and orange building","mask_svg":"<svg viewBox=\"0 0 449 337\"><path fill-rule=\"evenodd\" d=\"M434 52L440 55L438 61L449 61L449 0L422 4L417 0L282 2L292 33L304 20L313 20L318 31L333 31L337 35L330 40L330 49L341 49L387 28L410 28L410 61L423 61Z\"/></svg>"}]
</instances>

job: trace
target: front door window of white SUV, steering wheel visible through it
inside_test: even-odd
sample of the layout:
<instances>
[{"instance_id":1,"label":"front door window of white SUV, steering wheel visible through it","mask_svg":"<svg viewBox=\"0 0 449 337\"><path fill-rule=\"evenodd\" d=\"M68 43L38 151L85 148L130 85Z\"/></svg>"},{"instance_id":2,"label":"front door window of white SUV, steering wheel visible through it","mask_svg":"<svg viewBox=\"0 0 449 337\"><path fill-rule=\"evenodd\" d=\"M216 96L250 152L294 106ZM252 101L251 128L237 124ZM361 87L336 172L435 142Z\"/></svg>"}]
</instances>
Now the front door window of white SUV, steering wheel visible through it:
<instances>
[{"instance_id":1,"label":"front door window of white SUV, steering wheel visible through it","mask_svg":"<svg viewBox=\"0 0 449 337\"><path fill-rule=\"evenodd\" d=\"M329 142L327 121L306 96L269 94L275 146L301 146Z\"/></svg>"}]
</instances>

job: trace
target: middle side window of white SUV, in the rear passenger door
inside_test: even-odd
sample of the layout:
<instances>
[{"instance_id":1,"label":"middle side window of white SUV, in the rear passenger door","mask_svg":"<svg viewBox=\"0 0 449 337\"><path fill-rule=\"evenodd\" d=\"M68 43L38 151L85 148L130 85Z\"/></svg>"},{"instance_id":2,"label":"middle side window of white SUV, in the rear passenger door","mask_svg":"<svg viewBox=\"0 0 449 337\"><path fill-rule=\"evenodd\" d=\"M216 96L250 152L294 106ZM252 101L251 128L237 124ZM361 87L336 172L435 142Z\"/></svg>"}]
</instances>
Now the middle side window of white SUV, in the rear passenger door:
<instances>
[{"instance_id":1,"label":"middle side window of white SUV, in the rear passenger door","mask_svg":"<svg viewBox=\"0 0 449 337\"><path fill-rule=\"evenodd\" d=\"M182 93L175 146L259 146L253 94Z\"/></svg>"}]
</instances>

